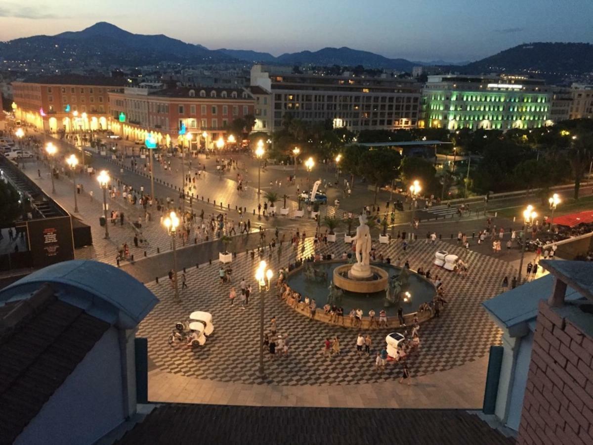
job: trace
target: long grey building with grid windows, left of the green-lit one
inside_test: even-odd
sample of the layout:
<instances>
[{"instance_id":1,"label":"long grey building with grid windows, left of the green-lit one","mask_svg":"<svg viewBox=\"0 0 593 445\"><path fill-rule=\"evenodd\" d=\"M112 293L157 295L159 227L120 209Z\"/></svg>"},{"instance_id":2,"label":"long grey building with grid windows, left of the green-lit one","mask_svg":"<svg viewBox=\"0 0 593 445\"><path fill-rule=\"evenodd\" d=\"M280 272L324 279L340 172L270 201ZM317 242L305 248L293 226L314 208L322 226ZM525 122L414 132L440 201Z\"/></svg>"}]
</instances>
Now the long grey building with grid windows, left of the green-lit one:
<instances>
[{"instance_id":1,"label":"long grey building with grid windows, left of the green-lit one","mask_svg":"<svg viewBox=\"0 0 593 445\"><path fill-rule=\"evenodd\" d=\"M394 130L417 126L422 85L415 80L292 74L292 69L254 65L251 85L270 91L272 131L284 116L333 122L350 131Z\"/></svg>"}]
</instances>

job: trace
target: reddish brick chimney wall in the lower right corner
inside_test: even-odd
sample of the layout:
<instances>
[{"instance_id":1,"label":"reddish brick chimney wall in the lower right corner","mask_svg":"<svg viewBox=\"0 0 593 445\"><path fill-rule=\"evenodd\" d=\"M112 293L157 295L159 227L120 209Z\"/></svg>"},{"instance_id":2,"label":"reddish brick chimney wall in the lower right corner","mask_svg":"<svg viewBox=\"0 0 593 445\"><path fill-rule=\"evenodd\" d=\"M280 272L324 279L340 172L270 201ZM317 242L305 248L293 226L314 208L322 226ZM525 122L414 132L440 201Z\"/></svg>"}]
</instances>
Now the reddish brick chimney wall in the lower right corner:
<instances>
[{"instance_id":1,"label":"reddish brick chimney wall in the lower right corner","mask_svg":"<svg viewBox=\"0 0 593 445\"><path fill-rule=\"evenodd\" d=\"M518 444L593 443L593 339L540 301Z\"/></svg>"}]
</instances>

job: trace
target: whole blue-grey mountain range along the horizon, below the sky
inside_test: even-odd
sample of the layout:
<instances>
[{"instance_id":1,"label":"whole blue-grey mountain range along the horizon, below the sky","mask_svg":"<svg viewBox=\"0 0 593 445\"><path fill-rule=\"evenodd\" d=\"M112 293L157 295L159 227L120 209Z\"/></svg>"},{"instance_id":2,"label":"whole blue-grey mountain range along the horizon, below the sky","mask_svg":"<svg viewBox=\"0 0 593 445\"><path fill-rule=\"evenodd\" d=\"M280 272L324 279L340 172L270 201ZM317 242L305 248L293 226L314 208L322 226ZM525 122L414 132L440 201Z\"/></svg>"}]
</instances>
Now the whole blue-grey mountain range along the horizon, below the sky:
<instances>
[{"instance_id":1,"label":"whole blue-grey mountain range along the horizon, below the sky","mask_svg":"<svg viewBox=\"0 0 593 445\"><path fill-rule=\"evenodd\" d=\"M415 62L390 59L348 47L326 47L318 51L285 53L278 57L267 52L241 49L211 50L171 39L163 34L133 34L110 23L99 22L82 31L55 36L33 36L0 42L0 59L71 65L142 66L160 62L181 64L263 62L279 65L356 66L412 71L417 65L442 65L444 72L481 74L518 72L557 78L593 71L593 45L589 43L528 43L464 65L444 61Z\"/></svg>"}]
</instances>

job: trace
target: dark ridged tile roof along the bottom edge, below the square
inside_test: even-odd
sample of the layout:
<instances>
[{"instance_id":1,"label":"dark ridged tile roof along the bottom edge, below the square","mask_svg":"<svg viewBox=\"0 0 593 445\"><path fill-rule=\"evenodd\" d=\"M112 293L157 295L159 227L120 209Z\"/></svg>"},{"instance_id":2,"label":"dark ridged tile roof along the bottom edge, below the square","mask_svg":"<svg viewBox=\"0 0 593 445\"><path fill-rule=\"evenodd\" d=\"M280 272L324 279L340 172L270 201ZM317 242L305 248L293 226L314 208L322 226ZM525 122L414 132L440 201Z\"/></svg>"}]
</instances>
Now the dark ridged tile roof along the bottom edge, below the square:
<instances>
[{"instance_id":1,"label":"dark ridged tile roof along the bottom edge, below the square","mask_svg":"<svg viewBox=\"0 0 593 445\"><path fill-rule=\"evenodd\" d=\"M476 415L452 409L165 404L118 444L510 445Z\"/></svg>"}]
</instances>

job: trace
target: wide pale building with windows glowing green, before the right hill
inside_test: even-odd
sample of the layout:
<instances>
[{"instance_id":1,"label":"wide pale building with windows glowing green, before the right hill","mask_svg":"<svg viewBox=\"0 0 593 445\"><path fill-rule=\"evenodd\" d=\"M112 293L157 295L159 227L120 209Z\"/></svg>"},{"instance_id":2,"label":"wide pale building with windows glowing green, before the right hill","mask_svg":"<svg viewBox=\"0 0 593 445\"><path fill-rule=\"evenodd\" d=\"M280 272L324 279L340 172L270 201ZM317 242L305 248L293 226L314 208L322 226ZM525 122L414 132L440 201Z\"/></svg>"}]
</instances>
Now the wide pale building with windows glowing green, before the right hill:
<instances>
[{"instance_id":1,"label":"wide pale building with windows glowing green, before the right hill","mask_svg":"<svg viewBox=\"0 0 593 445\"><path fill-rule=\"evenodd\" d=\"M433 75L423 103L425 126L500 129L553 125L552 88L518 76Z\"/></svg>"}]
</instances>

